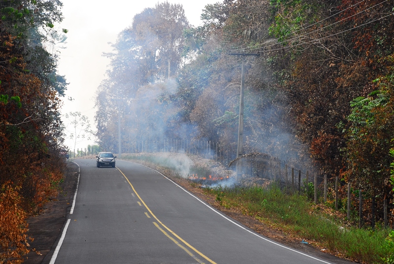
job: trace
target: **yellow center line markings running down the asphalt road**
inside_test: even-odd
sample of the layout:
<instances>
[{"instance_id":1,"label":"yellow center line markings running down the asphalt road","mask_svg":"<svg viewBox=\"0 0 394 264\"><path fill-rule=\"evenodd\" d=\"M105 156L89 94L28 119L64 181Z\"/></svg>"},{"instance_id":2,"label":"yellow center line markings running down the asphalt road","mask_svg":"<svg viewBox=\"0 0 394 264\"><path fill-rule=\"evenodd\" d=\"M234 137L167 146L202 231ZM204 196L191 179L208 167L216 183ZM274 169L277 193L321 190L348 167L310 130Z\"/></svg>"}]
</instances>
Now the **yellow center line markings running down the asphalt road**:
<instances>
[{"instance_id":1,"label":"yellow center line markings running down the asphalt road","mask_svg":"<svg viewBox=\"0 0 394 264\"><path fill-rule=\"evenodd\" d=\"M214 261L212 261L211 259L209 259L207 256L205 256L204 254L202 254L201 252L199 252L196 248L194 248L192 245L190 245L188 242L186 242L185 240L183 240L179 235L177 235L176 233L174 233L172 230L170 230L169 228L167 228L151 211L151 209L149 209L149 207L146 205L146 203L141 199L141 197L138 195L138 193L135 191L134 186L132 186L131 182L129 181L129 179L126 177L126 175L117 167L117 169L120 171L120 173L122 173L122 175L125 177L125 179L127 180L127 182L130 184L133 192L135 193L135 195L138 197L138 199L142 202L142 204L145 206L145 208L149 211L149 213L152 215L153 218L156 219L156 221L162 226L164 227L165 230L167 230L170 234L172 234L172 236L178 238L180 241L182 241L183 244L185 244L189 249L191 249L192 251L196 252L199 256L201 256L202 258L204 258L206 261L208 261L211 264L216 264ZM139 202L138 202L139 203ZM146 216L148 218L149 215L147 213L145 213ZM200 264L204 264L204 262L202 262L201 260L199 260L194 254L193 252L191 252L187 247L183 246L181 243L179 243L175 238L173 238L170 234L168 234L164 229L162 229L156 222L153 222L153 224L160 230L162 231L169 239L171 239L176 245L178 245L180 248L182 248L183 250L185 250L191 257L193 257L198 263Z\"/></svg>"}]
</instances>

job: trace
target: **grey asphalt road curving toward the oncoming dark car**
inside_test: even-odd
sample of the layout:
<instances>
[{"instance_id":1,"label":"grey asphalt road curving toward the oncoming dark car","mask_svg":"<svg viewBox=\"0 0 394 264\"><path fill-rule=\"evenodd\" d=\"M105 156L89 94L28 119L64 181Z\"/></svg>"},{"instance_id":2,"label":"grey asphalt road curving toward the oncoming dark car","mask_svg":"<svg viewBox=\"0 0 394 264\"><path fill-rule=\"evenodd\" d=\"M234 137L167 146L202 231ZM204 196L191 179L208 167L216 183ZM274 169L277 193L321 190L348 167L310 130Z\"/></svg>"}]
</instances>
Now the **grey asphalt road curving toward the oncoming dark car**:
<instances>
[{"instance_id":1,"label":"grey asphalt road curving toward the oncoming dark car","mask_svg":"<svg viewBox=\"0 0 394 264\"><path fill-rule=\"evenodd\" d=\"M75 162L79 186L56 264L328 263L247 230L145 166Z\"/></svg>"}]
</instances>

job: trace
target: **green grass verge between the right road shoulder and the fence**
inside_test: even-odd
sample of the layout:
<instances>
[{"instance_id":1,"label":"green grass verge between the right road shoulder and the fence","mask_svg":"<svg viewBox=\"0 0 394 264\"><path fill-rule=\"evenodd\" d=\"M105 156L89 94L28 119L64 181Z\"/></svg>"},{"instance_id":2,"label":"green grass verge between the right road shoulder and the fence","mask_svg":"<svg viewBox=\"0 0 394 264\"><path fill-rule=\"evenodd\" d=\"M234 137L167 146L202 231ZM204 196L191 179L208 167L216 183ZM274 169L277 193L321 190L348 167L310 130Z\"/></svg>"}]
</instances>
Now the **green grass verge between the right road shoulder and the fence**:
<instances>
[{"instance_id":1,"label":"green grass verge between the right road shoulder and the fence","mask_svg":"<svg viewBox=\"0 0 394 264\"><path fill-rule=\"evenodd\" d=\"M207 192L226 208L241 209L336 255L363 263L382 263L381 258L390 253L385 247L388 230L344 228L305 196L284 194L274 184L268 188L217 187Z\"/></svg>"}]
</instances>

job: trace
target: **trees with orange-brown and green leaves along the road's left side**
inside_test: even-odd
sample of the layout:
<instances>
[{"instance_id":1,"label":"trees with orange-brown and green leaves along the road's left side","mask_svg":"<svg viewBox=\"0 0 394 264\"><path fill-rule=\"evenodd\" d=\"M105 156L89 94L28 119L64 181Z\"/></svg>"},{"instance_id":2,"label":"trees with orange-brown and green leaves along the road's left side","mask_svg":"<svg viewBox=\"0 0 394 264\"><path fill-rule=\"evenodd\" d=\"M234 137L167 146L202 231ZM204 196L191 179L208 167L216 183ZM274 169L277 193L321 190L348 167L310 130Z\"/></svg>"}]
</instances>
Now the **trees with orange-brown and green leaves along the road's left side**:
<instances>
[{"instance_id":1,"label":"trees with orange-brown and green leaves along the road's left side","mask_svg":"<svg viewBox=\"0 0 394 264\"><path fill-rule=\"evenodd\" d=\"M29 251L24 219L57 195L63 178L66 81L46 48L62 37L53 29L61 7L59 0L0 1L1 263L21 263Z\"/></svg>"}]
</instances>

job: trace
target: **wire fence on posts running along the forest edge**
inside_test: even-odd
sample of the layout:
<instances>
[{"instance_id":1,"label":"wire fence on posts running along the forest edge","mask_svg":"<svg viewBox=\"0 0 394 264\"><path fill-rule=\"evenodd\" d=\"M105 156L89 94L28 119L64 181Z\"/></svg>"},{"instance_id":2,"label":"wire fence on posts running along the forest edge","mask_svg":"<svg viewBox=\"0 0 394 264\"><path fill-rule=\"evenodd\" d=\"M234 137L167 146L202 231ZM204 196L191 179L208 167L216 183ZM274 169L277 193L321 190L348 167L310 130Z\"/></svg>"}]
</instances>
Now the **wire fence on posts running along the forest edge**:
<instances>
[{"instance_id":1,"label":"wire fence on posts running along the forest edge","mask_svg":"<svg viewBox=\"0 0 394 264\"><path fill-rule=\"evenodd\" d=\"M338 177L320 175L313 168L302 169L295 159L288 161L263 153L249 153L236 158L236 145L209 140L140 140L129 142L122 148L121 154L132 153L187 153L206 159L215 160L235 170L238 161L242 161L242 178L262 178L279 184L288 194L305 195L316 204L325 203L336 210L347 212L348 220L358 221L359 226L366 224L374 227L376 221L389 223L388 214L394 207L388 200L353 190L351 184L339 181ZM116 153L114 149L89 146L76 151L69 151L69 157L96 156L101 151ZM208 179L211 175L199 175ZM224 177L225 178L225 177ZM216 179L217 180L217 179Z\"/></svg>"}]
</instances>

